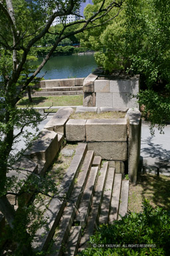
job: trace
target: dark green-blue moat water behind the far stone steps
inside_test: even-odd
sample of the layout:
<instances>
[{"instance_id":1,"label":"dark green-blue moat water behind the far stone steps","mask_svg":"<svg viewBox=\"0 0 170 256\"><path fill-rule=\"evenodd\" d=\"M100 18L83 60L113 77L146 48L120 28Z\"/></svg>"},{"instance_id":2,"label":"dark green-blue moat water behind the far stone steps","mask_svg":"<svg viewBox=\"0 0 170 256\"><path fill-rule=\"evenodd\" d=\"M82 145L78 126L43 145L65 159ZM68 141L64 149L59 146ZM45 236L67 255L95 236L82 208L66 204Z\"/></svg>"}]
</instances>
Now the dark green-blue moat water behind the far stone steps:
<instances>
[{"instance_id":1,"label":"dark green-blue moat water behind the far stone steps","mask_svg":"<svg viewBox=\"0 0 170 256\"><path fill-rule=\"evenodd\" d=\"M42 58L35 64L40 64ZM50 59L42 68L39 76L45 79L85 77L97 67L93 55L58 56Z\"/></svg>"}]
</instances>

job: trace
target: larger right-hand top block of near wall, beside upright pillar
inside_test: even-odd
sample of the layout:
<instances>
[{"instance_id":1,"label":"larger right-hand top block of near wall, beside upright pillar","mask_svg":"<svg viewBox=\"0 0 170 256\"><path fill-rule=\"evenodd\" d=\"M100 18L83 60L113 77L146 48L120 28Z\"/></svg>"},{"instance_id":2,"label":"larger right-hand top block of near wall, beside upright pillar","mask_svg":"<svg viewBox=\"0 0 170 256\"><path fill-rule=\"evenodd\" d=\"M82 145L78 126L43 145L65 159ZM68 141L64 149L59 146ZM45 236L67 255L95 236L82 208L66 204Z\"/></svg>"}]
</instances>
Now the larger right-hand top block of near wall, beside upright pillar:
<instances>
[{"instance_id":1,"label":"larger right-hand top block of near wall, beside upright pillar","mask_svg":"<svg viewBox=\"0 0 170 256\"><path fill-rule=\"evenodd\" d=\"M126 142L127 120L119 119L90 119L86 122L87 142Z\"/></svg>"}]
</instances>

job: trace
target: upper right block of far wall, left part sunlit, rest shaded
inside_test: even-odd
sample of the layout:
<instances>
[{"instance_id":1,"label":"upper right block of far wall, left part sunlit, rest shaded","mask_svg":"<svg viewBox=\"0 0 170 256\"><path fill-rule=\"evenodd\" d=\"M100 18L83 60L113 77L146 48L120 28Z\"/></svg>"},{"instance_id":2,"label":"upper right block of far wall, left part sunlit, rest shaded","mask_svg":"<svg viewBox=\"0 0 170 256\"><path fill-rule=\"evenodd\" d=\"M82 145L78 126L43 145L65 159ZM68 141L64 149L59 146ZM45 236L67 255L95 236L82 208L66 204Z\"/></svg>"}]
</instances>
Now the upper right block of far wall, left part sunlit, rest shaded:
<instances>
[{"instance_id":1,"label":"upper right block of far wall, left part sunlit, rest shaded","mask_svg":"<svg viewBox=\"0 0 170 256\"><path fill-rule=\"evenodd\" d=\"M110 92L129 93L130 84L130 80L110 80Z\"/></svg>"}]
</instances>

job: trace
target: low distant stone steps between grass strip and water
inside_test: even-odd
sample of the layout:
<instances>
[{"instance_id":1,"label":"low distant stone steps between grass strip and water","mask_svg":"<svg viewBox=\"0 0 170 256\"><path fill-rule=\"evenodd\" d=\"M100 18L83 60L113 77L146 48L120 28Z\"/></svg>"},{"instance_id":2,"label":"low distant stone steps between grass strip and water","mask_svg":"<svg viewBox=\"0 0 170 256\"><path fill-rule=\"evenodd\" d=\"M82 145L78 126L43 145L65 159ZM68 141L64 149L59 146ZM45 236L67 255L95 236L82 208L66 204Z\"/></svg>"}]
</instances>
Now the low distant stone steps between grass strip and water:
<instances>
[{"instance_id":1,"label":"low distant stone steps between grass strip and water","mask_svg":"<svg viewBox=\"0 0 170 256\"><path fill-rule=\"evenodd\" d=\"M60 86L51 88L41 88L32 92L33 96L49 96L49 95L78 95L83 94L83 86Z\"/></svg>"}]
</instances>

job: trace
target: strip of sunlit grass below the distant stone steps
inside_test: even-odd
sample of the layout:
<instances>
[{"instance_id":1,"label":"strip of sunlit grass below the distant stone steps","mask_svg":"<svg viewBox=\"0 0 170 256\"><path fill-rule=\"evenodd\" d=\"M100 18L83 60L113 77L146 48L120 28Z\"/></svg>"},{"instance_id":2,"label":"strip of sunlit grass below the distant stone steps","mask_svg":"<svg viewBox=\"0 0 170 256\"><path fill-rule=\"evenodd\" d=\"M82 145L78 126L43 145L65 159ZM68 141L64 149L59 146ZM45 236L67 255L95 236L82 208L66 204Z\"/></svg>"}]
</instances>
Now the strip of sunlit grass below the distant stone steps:
<instances>
[{"instance_id":1,"label":"strip of sunlit grass below the distant stone steps","mask_svg":"<svg viewBox=\"0 0 170 256\"><path fill-rule=\"evenodd\" d=\"M33 97L33 102L29 102L28 97L22 98L17 106L82 106L83 95L60 95L60 96L41 96Z\"/></svg>"}]
</instances>

